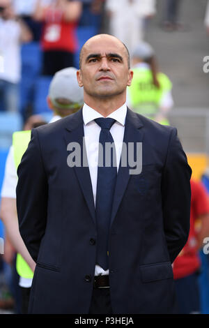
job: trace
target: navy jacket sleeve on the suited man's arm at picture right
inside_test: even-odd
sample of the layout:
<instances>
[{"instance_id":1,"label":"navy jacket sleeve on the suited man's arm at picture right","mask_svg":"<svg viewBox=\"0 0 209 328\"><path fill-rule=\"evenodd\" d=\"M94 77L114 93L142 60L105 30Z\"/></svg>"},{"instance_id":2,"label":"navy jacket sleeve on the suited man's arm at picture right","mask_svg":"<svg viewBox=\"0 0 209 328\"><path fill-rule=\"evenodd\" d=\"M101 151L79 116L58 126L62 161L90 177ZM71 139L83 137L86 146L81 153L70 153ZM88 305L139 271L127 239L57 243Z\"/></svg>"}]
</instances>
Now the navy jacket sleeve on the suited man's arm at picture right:
<instances>
[{"instance_id":1,"label":"navy jacket sleeve on the suited man's arm at picture right","mask_svg":"<svg viewBox=\"0 0 209 328\"><path fill-rule=\"evenodd\" d=\"M173 128L162 176L164 233L171 262L185 246L189 236L191 174L192 170L178 140L177 130Z\"/></svg>"}]
</instances>

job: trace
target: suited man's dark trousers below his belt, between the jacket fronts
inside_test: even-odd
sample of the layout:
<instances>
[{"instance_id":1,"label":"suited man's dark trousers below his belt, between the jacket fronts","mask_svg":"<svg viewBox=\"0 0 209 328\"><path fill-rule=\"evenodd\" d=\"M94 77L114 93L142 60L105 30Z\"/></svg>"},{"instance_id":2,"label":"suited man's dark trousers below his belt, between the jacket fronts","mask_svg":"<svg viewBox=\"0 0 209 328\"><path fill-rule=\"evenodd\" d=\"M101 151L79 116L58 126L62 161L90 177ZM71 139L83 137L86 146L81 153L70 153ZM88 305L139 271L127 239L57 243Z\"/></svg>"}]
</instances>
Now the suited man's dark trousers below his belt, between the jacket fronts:
<instances>
[{"instance_id":1,"label":"suited man's dark trousers below his belt, between the jacket fronts","mask_svg":"<svg viewBox=\"0 0 209 328\"><path fill-rule=\"evenodd\" d=\"M109 288L95 288L89 314L112 314Z\"/></svg>"}]
</instances>

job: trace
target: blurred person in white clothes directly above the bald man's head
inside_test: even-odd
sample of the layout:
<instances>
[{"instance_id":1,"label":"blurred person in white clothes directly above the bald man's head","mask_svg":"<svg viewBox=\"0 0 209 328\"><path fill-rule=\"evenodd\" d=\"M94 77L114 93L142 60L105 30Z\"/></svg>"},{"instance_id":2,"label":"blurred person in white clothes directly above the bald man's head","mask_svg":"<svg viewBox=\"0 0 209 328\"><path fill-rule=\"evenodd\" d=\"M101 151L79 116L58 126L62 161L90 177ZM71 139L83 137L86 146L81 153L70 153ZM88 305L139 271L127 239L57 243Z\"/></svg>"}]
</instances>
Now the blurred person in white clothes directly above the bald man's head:
<instances>
[{"instance_id":1,"label":"blurred person in white clothes directly above the bald man's head","mask_svg":"<svg viewBox=\"0 0 209 328\"><path fill-rule=\"evenodd\" d=\"M107 0L109 30L127 46L130 54L144 39L144 20L155 15L155 0Z\"/></svg>"}]
</instances>

